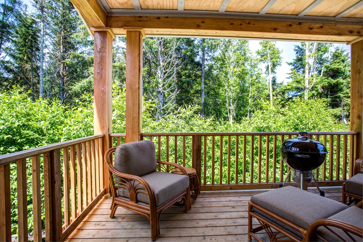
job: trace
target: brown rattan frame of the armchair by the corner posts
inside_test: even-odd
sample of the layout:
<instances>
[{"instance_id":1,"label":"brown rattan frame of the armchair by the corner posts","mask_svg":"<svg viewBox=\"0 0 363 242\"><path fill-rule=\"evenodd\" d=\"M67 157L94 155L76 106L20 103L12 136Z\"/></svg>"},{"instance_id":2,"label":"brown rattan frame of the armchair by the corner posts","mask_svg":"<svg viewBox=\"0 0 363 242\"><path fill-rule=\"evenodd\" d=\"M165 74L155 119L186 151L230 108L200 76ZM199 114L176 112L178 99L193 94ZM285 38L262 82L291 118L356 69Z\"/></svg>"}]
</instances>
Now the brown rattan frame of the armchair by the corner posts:
<instances>
[{"instance_id":1,"label":"brown rattan frame of the armchair by the corner posts","mask_svg":"<svg viewBox=\"0 0 363 242\"><path fill-rule=\"evenodd\" d=\"M117 169L114 168L112 160L113 153L115 152L116 148L117 147L110 148L105 153L105 161L108 168L109 183L112 193L110 218L114 218L116 209L118 207L122 207L146 216L150 220L151 241L154 241L160 235L160 216L165 209L169 208L171 205L175 204L181 199L184 200L185 213L187 213L191 209L189 186L183 192L177 194L170 200L164 202L159 206L156 206L154 193L152 192L150 185L144 179L139 176L119 172ZM160 160L157 160L157 163L158 166L156 167L156 170L158 171L170 172L171 168L175 167L180 169L183 175L188 176L188 174L185 172L183 167L181 167L181 165ZM118 178L121 181L115 181L114 178ZM129 200L123 199L118 195L118 187L127 188L129 190ZM138 203L136 199L136 194L138 192L147 194L149 199L149 206Z\"/></svg>"}]
</instances>

